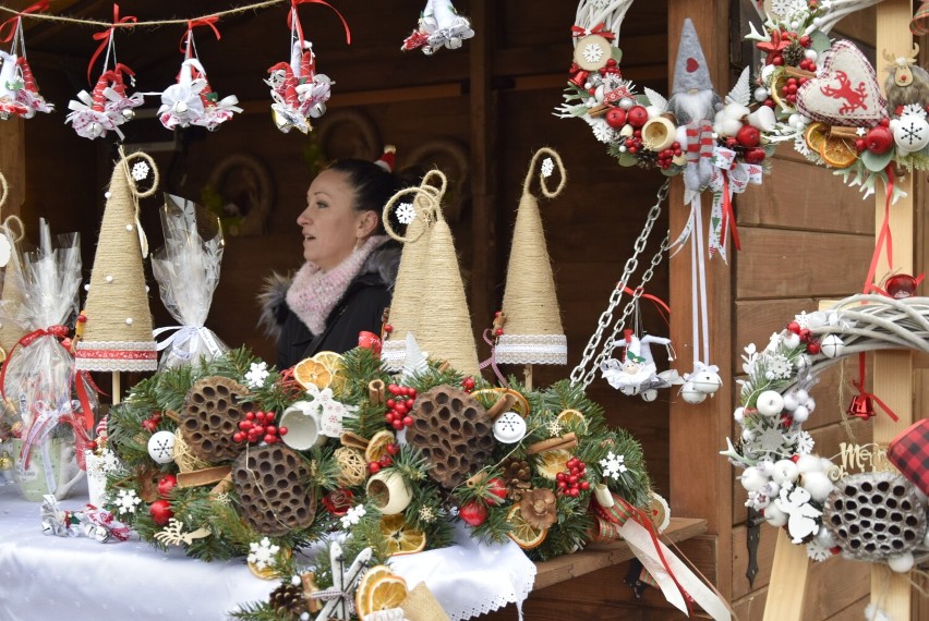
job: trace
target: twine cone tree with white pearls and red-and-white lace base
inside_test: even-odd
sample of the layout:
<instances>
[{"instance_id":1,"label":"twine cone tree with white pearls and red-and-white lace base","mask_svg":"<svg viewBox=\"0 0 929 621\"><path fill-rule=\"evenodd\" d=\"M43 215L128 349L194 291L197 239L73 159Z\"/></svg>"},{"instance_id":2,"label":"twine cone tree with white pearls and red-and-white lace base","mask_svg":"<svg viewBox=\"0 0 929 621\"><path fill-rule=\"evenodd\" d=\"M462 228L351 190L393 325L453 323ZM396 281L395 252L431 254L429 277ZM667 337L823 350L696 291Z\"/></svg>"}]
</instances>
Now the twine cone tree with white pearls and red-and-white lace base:
<instances>
[{"instance_id":1,"label":"twine cone tree with white pearls and red-and-white lace base","mask_svg":"<svg viewBox=\"0 0 929 621\"><path fill-rule=\"evenodd\" d=\"M79 318L84 327L74 354L77 370L158 368L142 267L148 244L138 223L138 199L155 193L158 174L146 154L126 156L120 147L119 155L110 179L87 302ZM142 192L136 183L149 170L152 187Z\"/></svg>"}]
</instances>

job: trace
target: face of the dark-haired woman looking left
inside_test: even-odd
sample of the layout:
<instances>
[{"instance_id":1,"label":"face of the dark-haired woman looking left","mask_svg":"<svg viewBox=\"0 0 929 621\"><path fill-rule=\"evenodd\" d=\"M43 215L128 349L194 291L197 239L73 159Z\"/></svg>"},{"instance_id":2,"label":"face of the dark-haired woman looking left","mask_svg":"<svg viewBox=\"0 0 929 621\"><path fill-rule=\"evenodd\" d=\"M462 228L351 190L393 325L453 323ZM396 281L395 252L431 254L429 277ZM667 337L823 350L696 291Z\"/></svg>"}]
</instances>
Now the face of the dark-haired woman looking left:
<instances>
[{"instance_id":1,"label":"face of the dark-haired woman looking left","mask_svg":"<svg viewBox=\"0 0 929 621\"><path fill-rule=\"evenodd\" d=\"M355 211L353 204L354 188L343 172L324 170L310 184L297 224L303 232L303 258L323 271L348 258L358 240L371 232L366 221L373 212Z\"/></svg>"}]
</instances>

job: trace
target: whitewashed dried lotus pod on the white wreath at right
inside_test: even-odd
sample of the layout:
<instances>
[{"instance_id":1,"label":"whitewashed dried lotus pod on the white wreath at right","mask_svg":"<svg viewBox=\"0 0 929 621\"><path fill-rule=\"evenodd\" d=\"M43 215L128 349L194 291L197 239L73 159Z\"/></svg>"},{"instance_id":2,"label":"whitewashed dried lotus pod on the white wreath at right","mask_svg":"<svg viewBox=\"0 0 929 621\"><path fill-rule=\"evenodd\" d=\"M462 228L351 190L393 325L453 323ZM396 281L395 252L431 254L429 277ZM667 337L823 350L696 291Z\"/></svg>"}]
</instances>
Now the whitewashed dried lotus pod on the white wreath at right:
<instances>
[{"instance_id":1,"label":"whitewashed dried lotus pod on the white wreath at right","mask_svg":"<svg viewBox=\"0 0 929 621\"><path fill-rule=\"evenodd\" d=\"M881 561L913 550L926 535L916 488L898 474L855 474L825 499L822 521L848 557Z\"/></svg>"}]
</instances>

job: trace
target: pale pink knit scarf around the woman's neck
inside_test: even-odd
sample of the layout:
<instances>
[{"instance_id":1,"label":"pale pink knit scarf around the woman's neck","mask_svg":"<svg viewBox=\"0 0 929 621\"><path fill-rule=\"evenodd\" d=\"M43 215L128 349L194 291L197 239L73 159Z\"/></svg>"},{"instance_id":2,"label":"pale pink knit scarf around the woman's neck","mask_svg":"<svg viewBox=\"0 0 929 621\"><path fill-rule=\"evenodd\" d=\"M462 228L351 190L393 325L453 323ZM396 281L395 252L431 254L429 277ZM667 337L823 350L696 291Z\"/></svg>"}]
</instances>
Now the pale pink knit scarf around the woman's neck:
<instances>
[{"instance_id":1,"label":"pale pink knit scarf around the woman's neck","mask_svg":"<svg viewBox=\"0 0 929 621\"><path fill-rule=\"evenodd\" d=\"M294 275L293 282L287 290L287 305L310 328L314 337L326 329L326 318L342 299L371 253L387 240L387 235L372 235L329 271L323 271L316 264L306 261Z\"/></svg>"}]
</instances>

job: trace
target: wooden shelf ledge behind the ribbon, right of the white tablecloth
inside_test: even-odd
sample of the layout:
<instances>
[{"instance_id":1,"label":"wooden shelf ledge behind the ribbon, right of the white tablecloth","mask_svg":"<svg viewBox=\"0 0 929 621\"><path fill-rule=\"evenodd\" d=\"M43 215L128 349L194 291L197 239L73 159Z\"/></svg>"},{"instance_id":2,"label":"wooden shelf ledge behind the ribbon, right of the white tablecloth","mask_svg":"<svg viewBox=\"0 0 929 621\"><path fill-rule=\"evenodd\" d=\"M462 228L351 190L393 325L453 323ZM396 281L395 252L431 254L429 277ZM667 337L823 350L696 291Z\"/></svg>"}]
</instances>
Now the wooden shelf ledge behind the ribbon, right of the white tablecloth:
<instances>
[{"instance_id":1,"label":"wooden shelf ledge behind the ribbon, right of the white tablecloth","mask_svg":"<svg viewBox=\"0 0 929 621\"><path fill-rule=\"evenodd\" d=\"M662 539L676 544L705 532L705 520L672 518L671 525L662 533ZM626 562L634 556L625 541L616 541L596 547L589 546L583 551L536 563L538 573L535 574L535 586L532 590L536 592L599 569ZM530 597L532 596L530 595Z\"/></svg>"}]
</instances>

